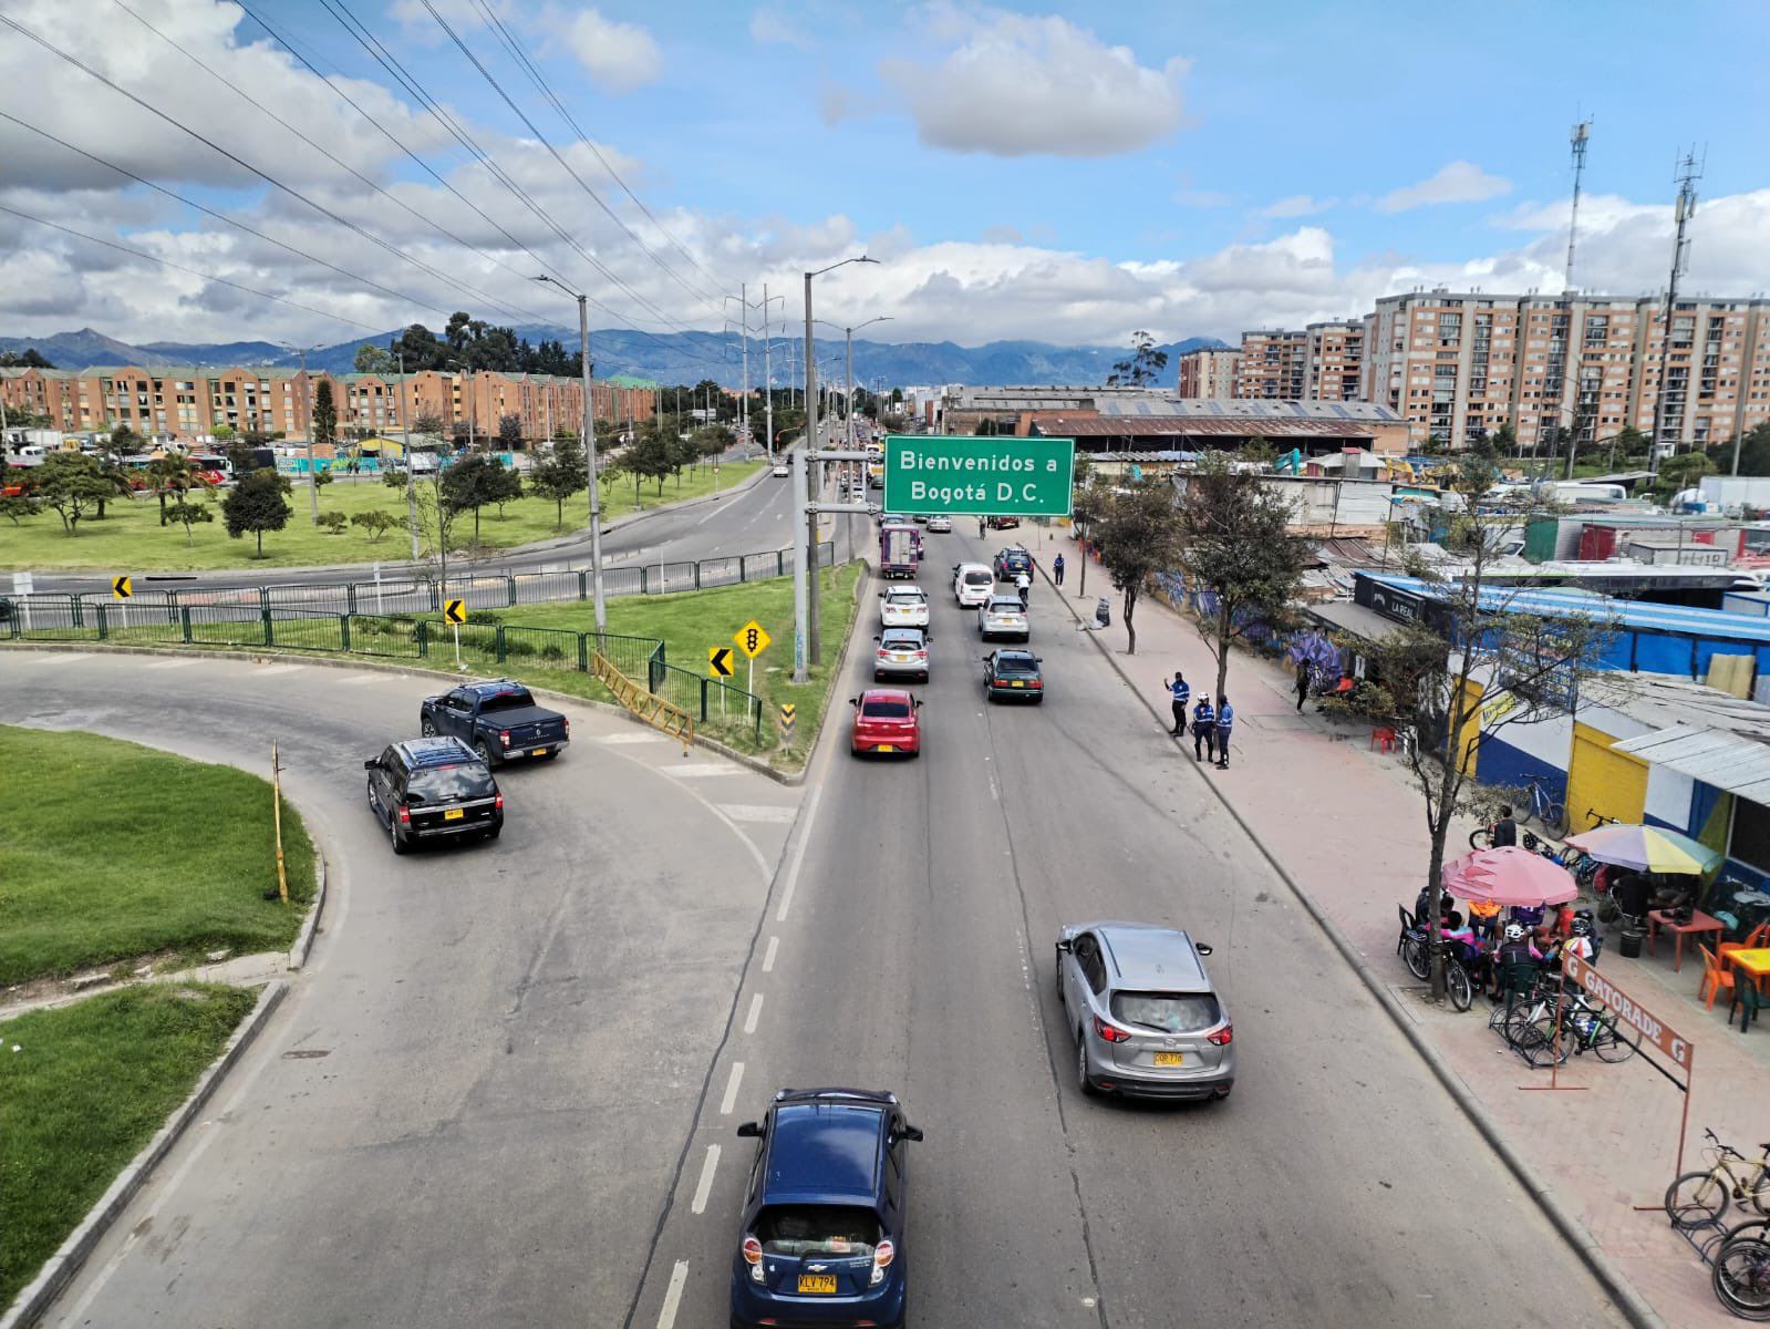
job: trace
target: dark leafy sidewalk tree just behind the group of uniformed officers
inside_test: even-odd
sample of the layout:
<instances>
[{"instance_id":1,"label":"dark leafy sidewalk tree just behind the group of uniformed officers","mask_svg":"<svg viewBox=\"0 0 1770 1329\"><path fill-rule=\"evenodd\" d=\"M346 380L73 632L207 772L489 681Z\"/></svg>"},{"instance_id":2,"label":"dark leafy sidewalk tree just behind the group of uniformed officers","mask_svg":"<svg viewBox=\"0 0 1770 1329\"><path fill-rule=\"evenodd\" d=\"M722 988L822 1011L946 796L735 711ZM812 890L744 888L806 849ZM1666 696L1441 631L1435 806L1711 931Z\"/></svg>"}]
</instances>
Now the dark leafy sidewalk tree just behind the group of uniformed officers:
<instances>
[{"instance_id":1,"label":"dark leafy sidewalk tree just behind the group of uniformed officers","mask_svg":"<svg viewBox=\"0 0 1770 1329\"><path fill-rule=\"evenodd\" d=\"M1280 627L1303 585L1308 549L1289 533L1292 507L1255 471L1207 454L1181 498L1181 567L1198 592L1198 634L1216 656L1212 696L1228 691L1228 649L1257 624Z\"/></svg>"}]
</instances>

